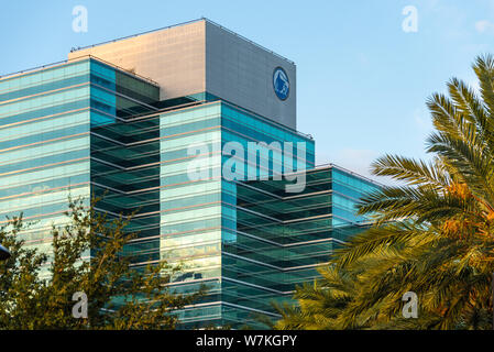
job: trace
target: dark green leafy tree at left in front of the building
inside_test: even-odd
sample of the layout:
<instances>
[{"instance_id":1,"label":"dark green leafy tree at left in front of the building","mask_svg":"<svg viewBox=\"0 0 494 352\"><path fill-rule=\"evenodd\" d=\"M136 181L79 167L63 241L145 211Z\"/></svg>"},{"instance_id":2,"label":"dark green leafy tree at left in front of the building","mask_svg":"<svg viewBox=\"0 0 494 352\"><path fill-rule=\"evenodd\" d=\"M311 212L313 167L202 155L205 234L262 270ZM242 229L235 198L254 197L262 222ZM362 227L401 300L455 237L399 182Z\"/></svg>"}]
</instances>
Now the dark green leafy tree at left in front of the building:
<instances>
[{"instance_id":1,"label":"dark green leafy tree at left in front of the building","mask_svg":"<svg viewBox=\"0 0 494 352\"><path fill-rule=\"evenodd\" d=\"M127 231L132 217L108 219L95 204L86 209L70 201L70 221L53 227L48 254L19 239L29 227L22 218L0 229L0 243L12 254L0 262L0 329L174 329L174 312L204 294L179 295L166 286L179 267L133 266L125 254L136 237ZM87 297L87 318L84 297L73 300L76 293Z\"/></svg>"}]
</instances>

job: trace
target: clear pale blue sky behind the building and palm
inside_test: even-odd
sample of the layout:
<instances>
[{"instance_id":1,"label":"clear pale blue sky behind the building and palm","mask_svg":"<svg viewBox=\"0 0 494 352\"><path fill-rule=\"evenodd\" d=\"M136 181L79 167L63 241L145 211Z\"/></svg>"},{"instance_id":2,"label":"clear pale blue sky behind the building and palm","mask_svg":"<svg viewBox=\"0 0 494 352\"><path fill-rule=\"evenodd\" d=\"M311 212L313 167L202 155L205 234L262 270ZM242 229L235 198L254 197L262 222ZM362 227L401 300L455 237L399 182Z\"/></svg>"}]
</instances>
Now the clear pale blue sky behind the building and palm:
<instances>
[{"instance_id":1,"label":"clear pale blue sky behind the building and palm","mask_svg":"<svg viewBox=\"0 0 494 352\"><path fill-rule=\"evenodd\" d=\"M75 6L88 32L72 30ZM414 6L418 31L402 13ZM494 0L9 1L0 12L0 75L65 59L84 46L206 16L297 64L298 130L318 164L369 176L384 153L427 157L425 101L452 76L476 85L474 57L494 54Z\"/></svg>"}]
</instances>

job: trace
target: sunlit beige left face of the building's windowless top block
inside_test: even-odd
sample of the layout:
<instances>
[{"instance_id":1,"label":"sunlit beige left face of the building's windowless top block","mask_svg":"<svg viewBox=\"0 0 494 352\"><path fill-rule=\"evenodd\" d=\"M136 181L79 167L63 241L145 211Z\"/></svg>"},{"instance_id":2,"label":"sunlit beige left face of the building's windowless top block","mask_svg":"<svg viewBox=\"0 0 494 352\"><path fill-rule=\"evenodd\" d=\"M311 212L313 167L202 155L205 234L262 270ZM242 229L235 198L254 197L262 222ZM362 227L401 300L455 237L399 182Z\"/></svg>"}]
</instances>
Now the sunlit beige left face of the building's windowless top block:
<instances>
[{"instance_id":1,"label":"sunlit beige left face of the building's windowless top block","mask_svg":"<svg viewBox=\"0 0 494 352\"><path fill-rule=\"evenodd\" d=\"M85 55L153 79L160 84L162 100L206 90L205 21L87 47L68 58Z\"/></svg>"}]
</instances>

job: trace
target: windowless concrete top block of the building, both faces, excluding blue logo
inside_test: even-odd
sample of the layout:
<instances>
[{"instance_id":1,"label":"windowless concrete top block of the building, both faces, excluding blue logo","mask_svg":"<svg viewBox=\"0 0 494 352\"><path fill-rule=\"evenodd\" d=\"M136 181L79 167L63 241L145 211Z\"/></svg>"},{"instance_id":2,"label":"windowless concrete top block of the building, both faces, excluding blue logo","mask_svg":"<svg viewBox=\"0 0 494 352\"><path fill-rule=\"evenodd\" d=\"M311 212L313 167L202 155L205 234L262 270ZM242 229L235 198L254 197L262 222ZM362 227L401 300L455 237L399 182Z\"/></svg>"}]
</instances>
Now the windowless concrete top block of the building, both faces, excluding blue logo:
<instances>
[{"instance_id":1,"label":"windowless concrete top block of the building, both faces, excluding blue logo","mask_svg":"<svg viewBox=\"0 0 494 352\"><path fill-rule=\"evenodd\" d=\"M208 20L86 47L68 57L86 55L153 79L161 99L208 91L296 129L295 65ZM273 89L278 66L289 79L286 100Z\"/></svg>"}]
</instances>

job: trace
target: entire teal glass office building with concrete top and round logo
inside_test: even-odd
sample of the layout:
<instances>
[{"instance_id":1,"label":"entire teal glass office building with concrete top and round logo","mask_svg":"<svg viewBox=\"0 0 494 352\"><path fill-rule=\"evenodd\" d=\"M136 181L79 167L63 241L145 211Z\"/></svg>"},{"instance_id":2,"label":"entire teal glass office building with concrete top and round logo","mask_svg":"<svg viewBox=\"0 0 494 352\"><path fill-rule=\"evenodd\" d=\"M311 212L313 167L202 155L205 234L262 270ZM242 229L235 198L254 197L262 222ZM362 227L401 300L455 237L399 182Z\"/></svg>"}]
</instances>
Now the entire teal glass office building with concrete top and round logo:
<instances>
[{"instance_id":1,"label":"entire teal glass office building with concrete top and round logo","mask_svg":"<svg viewBox=\"0 0 494 352\"><path fill-rule=\"evenodd\" d=\"M1 221L22 212L35 221L26 245L50 253L69 196L135 212L134 264L182 265L176 292L208 287L179 311L184 328L276 318L271 301L365 226L354 205L376 187L315 166L314 140L296 130L294 63L206 19L0 78Z\"/></svg>"}]
</instances>

